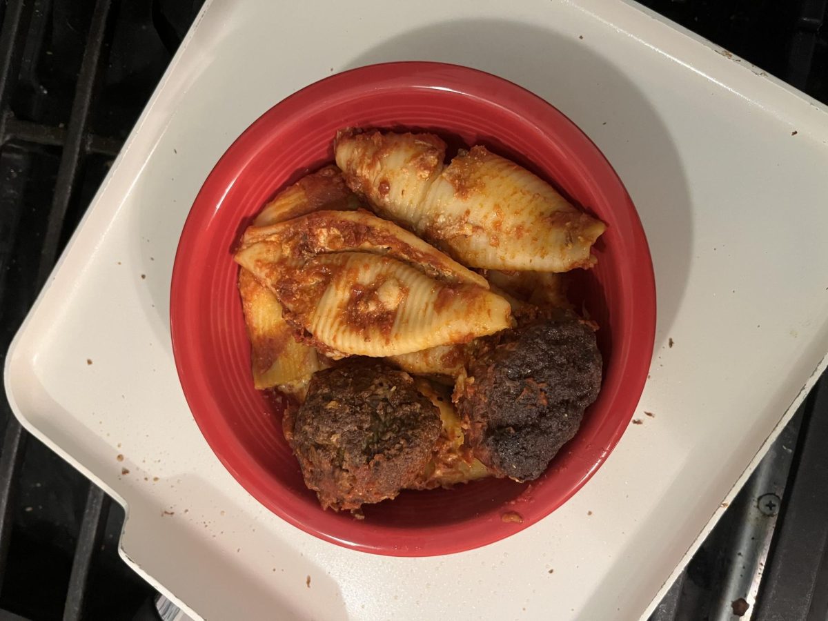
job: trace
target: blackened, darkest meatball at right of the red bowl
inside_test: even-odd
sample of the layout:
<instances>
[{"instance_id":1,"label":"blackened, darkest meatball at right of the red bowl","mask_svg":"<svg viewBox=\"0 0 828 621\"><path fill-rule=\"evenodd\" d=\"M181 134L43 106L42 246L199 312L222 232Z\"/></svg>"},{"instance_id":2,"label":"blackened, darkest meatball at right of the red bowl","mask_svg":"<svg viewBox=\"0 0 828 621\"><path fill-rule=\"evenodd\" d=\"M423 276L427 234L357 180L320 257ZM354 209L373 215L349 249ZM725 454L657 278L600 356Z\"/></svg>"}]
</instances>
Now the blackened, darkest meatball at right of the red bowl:
<instances>
[{"instance_id":1,"label":"blackened, darkest meatball at right of the red bowl","mask_svg":"<svg viewBox=\"0 0 828 621\"><path fill-rule=\"evenodd\" d=\"M579 320L543 321L489 339L455 395L474 456L527 481L575 436L600 385L593 330Z\"/></svg>"}]
</instances>

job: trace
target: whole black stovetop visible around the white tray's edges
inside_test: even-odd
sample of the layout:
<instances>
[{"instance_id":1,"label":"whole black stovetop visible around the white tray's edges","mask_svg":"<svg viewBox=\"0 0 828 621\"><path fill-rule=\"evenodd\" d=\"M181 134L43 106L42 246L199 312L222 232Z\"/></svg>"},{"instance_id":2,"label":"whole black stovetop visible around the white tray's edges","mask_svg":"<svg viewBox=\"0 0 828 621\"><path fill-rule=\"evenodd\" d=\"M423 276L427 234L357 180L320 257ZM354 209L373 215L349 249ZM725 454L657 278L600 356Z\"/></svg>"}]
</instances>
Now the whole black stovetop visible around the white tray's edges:
<instances>
[{"instance_id":1,"label":"whole black stovetop visible around the white tray's edges","mask_svg":"<svg viewBox=\"0 0 828 621\"><path fill-rule=\"evenodd\" d=\"M0 363L203 1L0 5ZM828 102L826 0L643 4ZM821 384L652 619L826 619ZM155 591L118 557L123 509L3 396L0 433L0 619L156 616Z\"/></svg>"}]
</instances>

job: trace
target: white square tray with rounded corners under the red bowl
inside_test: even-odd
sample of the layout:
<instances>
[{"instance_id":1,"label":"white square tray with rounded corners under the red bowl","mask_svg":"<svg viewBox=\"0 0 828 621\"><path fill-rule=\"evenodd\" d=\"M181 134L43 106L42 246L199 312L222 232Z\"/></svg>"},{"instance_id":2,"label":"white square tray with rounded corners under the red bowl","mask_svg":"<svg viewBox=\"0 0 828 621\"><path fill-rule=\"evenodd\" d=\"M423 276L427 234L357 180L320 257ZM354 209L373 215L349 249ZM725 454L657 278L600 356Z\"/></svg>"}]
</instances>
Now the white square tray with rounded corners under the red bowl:
<instances>
[{"instance_id":1,"label":"white square tray with rounded corners under the red bowl","mask_svg":"<svg viewBox=\"0 0 828 621\"><path fill-rule=\"evenodd\" d=\"M451 556L349 551L267 512L201 437L171 353L172 261L219 156L296 89L387 60L561 109L627 186L656 271L641 424L564 507ZM824 367L826 141L821 104L620 0L214 0L12 344L9 399L125 505L124 558L194 616L635 619Z\"/></svg>"}]
</instances>

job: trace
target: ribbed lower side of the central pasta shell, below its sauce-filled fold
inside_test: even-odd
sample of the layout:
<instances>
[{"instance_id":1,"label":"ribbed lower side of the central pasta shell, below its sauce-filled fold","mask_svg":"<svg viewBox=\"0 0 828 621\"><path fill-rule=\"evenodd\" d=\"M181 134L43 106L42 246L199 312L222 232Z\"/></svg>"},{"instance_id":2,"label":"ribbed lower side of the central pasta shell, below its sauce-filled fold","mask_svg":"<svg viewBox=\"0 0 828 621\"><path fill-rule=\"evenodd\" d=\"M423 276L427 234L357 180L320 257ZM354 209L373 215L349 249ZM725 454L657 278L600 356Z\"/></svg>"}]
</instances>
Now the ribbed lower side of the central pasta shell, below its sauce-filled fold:
<instances>
[{"instance_id":1,"label":"ribbed lower side of the central pasta shell, below its sauce-filled fold","mask_svg":"<svg viewBox=\"0 0 828 621\"><path fill-rule=\"evenodd\" d=\"M237 261L277 297L297 335L332 358L407 354L511 325L508 301L481 286L436 281L370 253L273 262L272 245L256 243Z\"/></svg>"}]
</instances>

